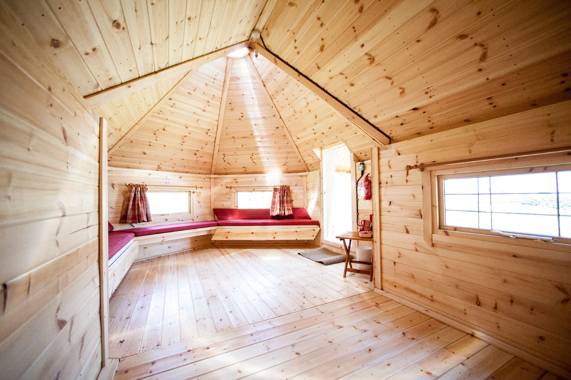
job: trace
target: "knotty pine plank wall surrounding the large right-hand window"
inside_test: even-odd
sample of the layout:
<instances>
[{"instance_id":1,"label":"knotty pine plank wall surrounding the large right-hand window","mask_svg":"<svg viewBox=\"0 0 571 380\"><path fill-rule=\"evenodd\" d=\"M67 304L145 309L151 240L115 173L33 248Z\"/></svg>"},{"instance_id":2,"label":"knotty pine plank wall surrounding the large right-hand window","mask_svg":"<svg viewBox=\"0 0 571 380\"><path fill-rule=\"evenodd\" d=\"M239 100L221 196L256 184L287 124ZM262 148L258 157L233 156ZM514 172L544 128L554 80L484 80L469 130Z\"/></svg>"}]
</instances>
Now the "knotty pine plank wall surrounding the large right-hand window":
<instances>
[{"instance_id":1,"label":"knotty pine plank wall surrounding the large right-hand window","mask_svg":"<svg viewBox=\"0 0 571 380\"><path fill-rule=\"evenodd\" d=\"M428 246L421 173L404 169L569 146L570 118L568 101L381 148L383 289L571 371L569 253L438 235Z\"/></svg>"}]
</instances>

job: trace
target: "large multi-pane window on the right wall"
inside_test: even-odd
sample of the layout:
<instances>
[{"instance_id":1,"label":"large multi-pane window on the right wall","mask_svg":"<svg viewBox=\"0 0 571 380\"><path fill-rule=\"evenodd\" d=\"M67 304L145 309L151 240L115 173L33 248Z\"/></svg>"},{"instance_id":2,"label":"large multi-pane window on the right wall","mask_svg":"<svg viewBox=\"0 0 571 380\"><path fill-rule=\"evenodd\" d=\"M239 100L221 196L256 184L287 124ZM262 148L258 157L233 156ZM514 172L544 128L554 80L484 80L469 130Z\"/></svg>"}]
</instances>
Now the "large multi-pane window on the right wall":
<instances>
[{"instance_id":1,"label":"large multi-pane window on the right wall","mask_svg":"<svg viewBox=\"0 0 571 380\"><path fill-rule=\"evenodd\" d=\"M440 229L571 238L571 170L565 169L438 175Z\"/></svg>"}]
</instances>

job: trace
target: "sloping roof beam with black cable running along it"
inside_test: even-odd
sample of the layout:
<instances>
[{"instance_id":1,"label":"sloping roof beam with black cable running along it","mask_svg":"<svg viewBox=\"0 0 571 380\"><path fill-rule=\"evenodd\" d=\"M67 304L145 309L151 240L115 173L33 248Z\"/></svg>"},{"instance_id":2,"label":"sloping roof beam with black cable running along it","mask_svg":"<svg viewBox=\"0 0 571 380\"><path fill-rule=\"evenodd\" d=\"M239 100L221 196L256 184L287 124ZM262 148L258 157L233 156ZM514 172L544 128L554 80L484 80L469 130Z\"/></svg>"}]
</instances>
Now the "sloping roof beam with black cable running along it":
<instances>
[{"instance_id":1,"label":"sloping roof beam with black cable running along it","mask_svg":"<svg viewBox=\"0 0 571 380\"><path fill-rule=\"evenodd\" d=\"M368 120L364 119L355 111L351 110L351 108L349 108L347 105L334 98L331 94L329 94L329 92L317 86L317 84L313 83L312 80L306 78L304 75L301 75L300 72L298 72L292 66L289 66L289 64L279 58L279 56L275 55L269 50L266 50L266 48L260 44L258 44L257 48L259 54L262 54L264 58L274 63L280 69L285 71L286 74L297 80L297 82L301 83L301 85L307 88L307 90L313 92L315 96L323 100L325 103L329 104L333 111L337 112L337 114L340 116L343 116L343 118L347 119L349 122L355 124L359 130L363 131L365 135L369 136L376 143L380 145L388 145L391 143L391 139L389 139L388 136L383 134L383 132L380 130L377 130L377 128L373 126L373 124L369 123Z\"/></svg>"}]
</instances>

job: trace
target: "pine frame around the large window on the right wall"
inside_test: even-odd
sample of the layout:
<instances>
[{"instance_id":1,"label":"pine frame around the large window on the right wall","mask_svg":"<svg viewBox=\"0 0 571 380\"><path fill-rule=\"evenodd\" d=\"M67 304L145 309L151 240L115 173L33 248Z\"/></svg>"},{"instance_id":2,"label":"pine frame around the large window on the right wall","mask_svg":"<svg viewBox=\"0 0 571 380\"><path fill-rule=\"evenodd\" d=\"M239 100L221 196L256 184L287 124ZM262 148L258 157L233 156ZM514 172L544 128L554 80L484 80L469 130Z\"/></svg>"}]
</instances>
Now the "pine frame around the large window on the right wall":
<instances>
[{"instance_id":1,"label":"pine frame around the large window on the right wall","mask_svg":"<svg viewBox=\"0 0 571 380\"><path fill-rule=\"evenodd\" d=\"M423 237L429 246L456 244L457 241L454 238L461 237L571 253L571 238L516 232L498 233L486 229L445 225L443 191L443 181L449 178L568 171L571 170L571 156L568 152L522 155L464 163L443 163L419 169L423 194ZM549 241L552 238L553 241Z\"/></svg>"}]
</instances>

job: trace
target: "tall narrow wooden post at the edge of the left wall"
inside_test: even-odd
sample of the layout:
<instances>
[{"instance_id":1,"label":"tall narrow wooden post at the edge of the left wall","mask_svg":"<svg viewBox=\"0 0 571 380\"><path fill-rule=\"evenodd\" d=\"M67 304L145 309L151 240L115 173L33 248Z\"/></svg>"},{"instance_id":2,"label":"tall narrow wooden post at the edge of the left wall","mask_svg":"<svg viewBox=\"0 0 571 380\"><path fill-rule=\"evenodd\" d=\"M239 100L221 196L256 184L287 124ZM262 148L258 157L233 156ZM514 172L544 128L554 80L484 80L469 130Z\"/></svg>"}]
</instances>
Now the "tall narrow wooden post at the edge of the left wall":
<instances>
[{"instance_id":1,"label":"tall narrow wooden post at the edge of the left wall","mask_svg":"<svg viewBox=\"0 0 571 380\"><path fill-rule=\"evenodd\" d=\"M107 120L99 118L99 316L101 319L101 366L109 360L109 269L107 209Z\"/></svg>"}]
</instances>

